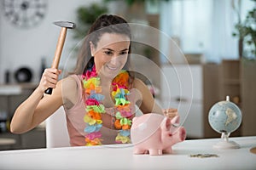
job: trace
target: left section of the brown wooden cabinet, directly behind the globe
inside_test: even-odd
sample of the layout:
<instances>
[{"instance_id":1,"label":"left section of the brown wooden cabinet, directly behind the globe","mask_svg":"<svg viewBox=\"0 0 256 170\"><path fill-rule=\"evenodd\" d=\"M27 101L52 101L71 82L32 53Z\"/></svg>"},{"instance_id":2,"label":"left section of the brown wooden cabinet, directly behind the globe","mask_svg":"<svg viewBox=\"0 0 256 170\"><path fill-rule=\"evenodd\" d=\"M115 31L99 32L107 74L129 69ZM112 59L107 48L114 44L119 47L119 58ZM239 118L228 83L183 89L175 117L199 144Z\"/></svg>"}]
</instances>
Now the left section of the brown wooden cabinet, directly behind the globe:
<instances>
[{"instance_id":1,"label":"left section of the brown wooden cabinet, directly behind the globe","mask_svg":"<svg viewBox=\"0 0 256 170\"><path fill-rule=\"evenodd\" d=\"M220 64L204 65L204 129L205 138L219 138L208 122L208 113L212 105L226 96L241 109L241 74L240 60L224 59ZM241 136L241 126L230 136Z\"/></svg>"}]
</instances>

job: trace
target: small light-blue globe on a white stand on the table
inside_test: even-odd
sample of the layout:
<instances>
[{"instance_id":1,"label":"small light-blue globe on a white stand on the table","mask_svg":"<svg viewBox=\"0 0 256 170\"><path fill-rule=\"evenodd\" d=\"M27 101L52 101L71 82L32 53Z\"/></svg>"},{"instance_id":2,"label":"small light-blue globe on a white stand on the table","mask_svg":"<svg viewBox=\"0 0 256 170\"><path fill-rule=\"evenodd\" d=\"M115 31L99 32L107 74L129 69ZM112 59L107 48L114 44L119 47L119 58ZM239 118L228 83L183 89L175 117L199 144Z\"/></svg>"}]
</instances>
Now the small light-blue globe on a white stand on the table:
<instances>
[{"instance_id":1,"label":"small light-blue globe on a white stand on the table","mask_svg":"<svg viewBox=\"0 0 256 170\"><path fill-rule=\"evenodd\" d=\"M229 141L230 133L236 131L241 125L241 111L239 107L230 102L230 97L227 96L226 100L219 101L212 108L208 114L208 121L213 130L222 133L224 143L216 145L218 148L238 148L235 142ZM229 143L229 144L227 144Z\"/></svg>"}]
</instances>

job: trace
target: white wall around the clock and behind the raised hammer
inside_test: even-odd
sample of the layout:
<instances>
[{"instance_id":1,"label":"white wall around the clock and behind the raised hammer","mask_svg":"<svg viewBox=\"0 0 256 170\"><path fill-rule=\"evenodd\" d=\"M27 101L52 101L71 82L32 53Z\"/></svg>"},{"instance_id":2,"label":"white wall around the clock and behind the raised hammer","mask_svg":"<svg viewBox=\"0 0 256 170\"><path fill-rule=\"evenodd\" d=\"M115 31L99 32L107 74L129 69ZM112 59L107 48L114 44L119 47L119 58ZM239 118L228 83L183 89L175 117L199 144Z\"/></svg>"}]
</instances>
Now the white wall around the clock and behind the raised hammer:
<instances>
[{"instance_id":1,"label":"white wall around the clock and behind the raised hammer","mask_svg":"<svg viewBox=\"0 0 256 170\"><path fill-rule=\"evenodd\" d=\"M4 82L4 71L13 74L21 66L32 69L32 82L39 81L41 58L45 57L48 66L55 54L56 42L61 28L52 24L55 20L75 22L75 12L80 5L89 5L100 0L49 0L44 20L32 28L18 28L6 20L0 11L0 83ZM72 31L67 31L67 39L61 55L60 67L63 67L71 49L78 41L73 39Z\"/></svg>"}]
</instances>

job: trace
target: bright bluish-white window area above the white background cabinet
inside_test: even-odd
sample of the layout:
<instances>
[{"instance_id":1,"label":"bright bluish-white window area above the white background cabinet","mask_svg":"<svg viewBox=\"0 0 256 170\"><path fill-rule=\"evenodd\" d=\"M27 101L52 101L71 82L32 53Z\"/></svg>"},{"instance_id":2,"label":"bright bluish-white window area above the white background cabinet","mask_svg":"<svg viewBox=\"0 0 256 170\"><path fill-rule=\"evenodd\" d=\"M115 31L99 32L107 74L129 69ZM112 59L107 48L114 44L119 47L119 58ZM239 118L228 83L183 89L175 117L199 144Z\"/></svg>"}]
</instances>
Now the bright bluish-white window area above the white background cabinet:
<instances>
[{"instance_id":1,"label":"bright bluish-white window area above the white background cabinet","mask_svg":"<svg viewBox=\"0 0 256 170\"><path fill-rule=\"evenodd\" d=\"M207 62L238 59L238 38L232 36L237 14L232 0L173 0L160 3L160 29L178 37L184 54L204 54ZM255 3L241 1L241 20ZM164 46L162 48L165 48Z\"/></svg>"}]
</instances>

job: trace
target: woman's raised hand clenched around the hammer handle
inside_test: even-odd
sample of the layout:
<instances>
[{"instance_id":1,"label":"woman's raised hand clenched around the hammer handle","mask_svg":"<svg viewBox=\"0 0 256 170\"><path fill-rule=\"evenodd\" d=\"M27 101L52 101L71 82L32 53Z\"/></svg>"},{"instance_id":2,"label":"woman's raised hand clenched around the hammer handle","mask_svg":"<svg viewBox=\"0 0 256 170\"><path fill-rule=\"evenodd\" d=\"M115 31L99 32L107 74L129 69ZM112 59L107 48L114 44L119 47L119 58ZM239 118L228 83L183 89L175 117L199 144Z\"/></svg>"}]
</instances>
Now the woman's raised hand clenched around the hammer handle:
<instances>
[{"instance_id":1,"label":"woman's raised hand clenched around the hammer handle","mask_svg":"<svg viewBox=\"0 0 256 170\"><path fill-rule=\"evenodd\" d=\"M55 68L45 69L38 87L43 92L47 88L55 88L55 85L58 82L58 77L60 74L61 74L61 70L57 70Z\"/></svg>"}]
</instances>

